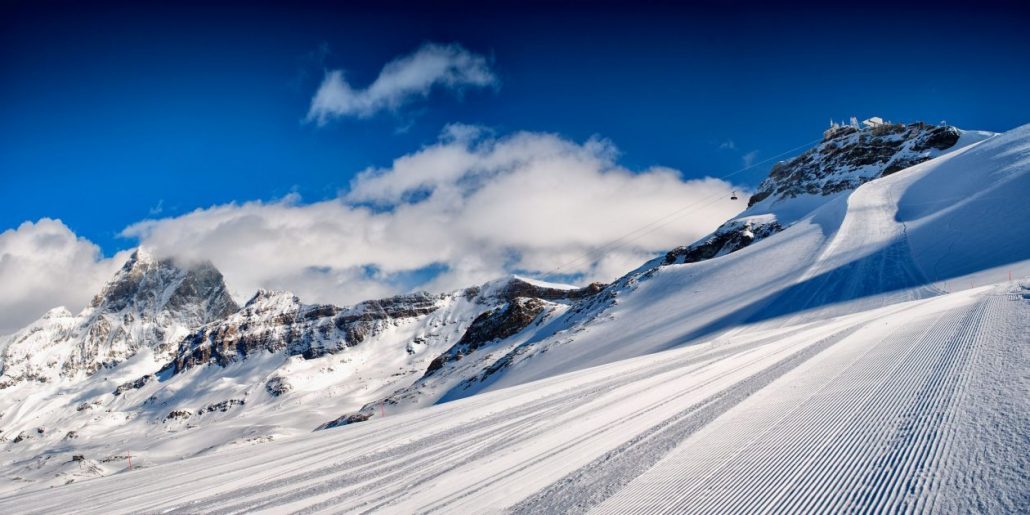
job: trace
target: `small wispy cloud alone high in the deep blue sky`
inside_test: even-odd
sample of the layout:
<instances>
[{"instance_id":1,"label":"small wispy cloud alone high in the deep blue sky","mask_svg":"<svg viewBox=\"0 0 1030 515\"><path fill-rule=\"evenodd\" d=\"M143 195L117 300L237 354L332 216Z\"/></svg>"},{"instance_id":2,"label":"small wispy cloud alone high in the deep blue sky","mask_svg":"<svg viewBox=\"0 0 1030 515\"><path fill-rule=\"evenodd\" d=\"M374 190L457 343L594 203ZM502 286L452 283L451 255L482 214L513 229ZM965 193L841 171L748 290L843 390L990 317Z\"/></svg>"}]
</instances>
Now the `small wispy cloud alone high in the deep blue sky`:
<instances>
[{"instance_id":1,"label":"small wispy cloud alone high in the deep blue sky","mask_svg":"<svg viewBox=\"0 0 1030 515\"><path fill-rule=\"evenodd\" d=\"M334 117L368 117L396 110L425 97L434 87L460 92L466 88L496 87L499 79L488 60L459 44L426 43L414 54L390 61L365 90L354 89L342 70L325 73L311 99L307 119L323 125Z\"/></svg>"}]
</instances>

